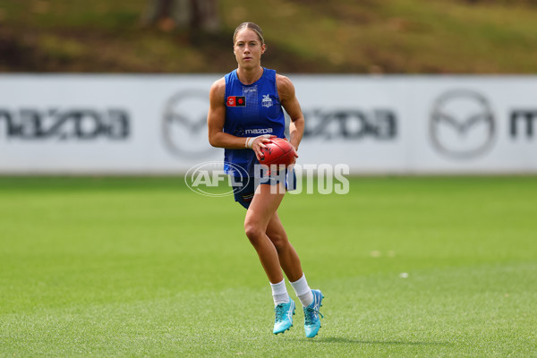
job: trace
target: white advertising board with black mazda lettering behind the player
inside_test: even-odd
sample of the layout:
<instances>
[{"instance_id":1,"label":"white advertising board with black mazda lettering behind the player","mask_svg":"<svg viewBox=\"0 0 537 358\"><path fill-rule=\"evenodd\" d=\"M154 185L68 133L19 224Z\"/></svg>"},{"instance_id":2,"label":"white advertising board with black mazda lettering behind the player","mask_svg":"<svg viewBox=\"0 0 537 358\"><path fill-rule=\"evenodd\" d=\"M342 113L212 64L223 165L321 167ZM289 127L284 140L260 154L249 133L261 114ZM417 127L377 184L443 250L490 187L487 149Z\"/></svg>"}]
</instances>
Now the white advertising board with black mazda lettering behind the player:
<instances>
[{"instance_id":1,"label":"white advertising board with black mazda lettering behind the player","mask_svg":"<svg viewBox=\"0 0 537 358\"><path fill-rule=\"evenodd\" d=\"M221 75L0 75L0 174L179 174ZM537 173L537 76L289 75L299 164L352 174Z\"/></svg>"}]
</instances>

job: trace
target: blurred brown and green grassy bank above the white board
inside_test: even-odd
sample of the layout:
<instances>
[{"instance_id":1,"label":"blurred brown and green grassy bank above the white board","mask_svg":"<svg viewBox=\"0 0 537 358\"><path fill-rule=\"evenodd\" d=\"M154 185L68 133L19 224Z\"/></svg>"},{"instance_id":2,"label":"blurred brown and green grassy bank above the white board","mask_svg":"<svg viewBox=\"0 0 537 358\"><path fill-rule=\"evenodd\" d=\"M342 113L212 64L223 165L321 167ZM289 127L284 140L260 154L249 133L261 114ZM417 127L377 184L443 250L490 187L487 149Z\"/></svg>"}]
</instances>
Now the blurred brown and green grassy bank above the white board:
<instances>
[{"instance_id":1,"label":"blurred brown and green grassy bank above the white board","mask_svg":"<svg viewBox=\"0 0 537 358\"><path fill-rule=\"evenodd\" d=\"M222 73L260 24L278 72L535 73L537 0L1 0L1 72Z\"/></svg>"}]
</instances>

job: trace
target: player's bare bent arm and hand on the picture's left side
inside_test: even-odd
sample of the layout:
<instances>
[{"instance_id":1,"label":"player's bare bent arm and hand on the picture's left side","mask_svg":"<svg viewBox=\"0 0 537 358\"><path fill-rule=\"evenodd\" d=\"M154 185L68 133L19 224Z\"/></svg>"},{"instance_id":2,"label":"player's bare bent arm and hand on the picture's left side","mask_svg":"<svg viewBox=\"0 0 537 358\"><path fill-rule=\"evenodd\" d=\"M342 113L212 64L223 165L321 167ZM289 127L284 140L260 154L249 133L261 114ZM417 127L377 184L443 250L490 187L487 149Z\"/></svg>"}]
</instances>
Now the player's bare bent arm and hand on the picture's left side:
<instances>
[{"instance_id":1,"label":"player's bare bent arm and hand on the picture's left side","mask_svg":"<svg viewBox=\"0 0 537 358\"><path fill-rule=\"evenodd\" d=\"M207 125L209 127L209 143L213 147L226 149L246 149L248 138L236 137L224 132L226 123L226 80L221 78L213 83L209 91L209 114ZM251 141L251 149L260 158L261 148L266 147L263 143L267 138L257 137Z\"/></svg>"}]
</instances>

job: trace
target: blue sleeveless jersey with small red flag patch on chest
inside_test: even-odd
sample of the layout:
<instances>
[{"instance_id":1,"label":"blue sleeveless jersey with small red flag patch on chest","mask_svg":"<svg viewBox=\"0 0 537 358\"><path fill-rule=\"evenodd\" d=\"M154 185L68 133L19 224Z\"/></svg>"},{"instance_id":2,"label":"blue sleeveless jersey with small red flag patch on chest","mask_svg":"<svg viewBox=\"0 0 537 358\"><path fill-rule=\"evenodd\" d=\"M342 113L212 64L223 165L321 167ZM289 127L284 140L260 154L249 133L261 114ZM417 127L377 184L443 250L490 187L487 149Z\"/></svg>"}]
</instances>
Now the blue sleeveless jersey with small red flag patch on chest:
<instances>
[{"instance_id":1,"label":"blue sleeveless jersey with small red flag patch on chest","mask_svg":"<svg viewBox=\"0 0 537 358\"><path fill-rule=\"evenodd\" d=\"M236 137L257 137L272 134L285 138L286 117L277 96L276 71L263 68L258 81L244 85L237 70L226 74L226 122L224 132ZM254 175L258 163L251 149L225 149L224 170L228 175ZM231 166L232 164L233 166ZM236 173L239 166L242 173Z\"/></svg>"}]
</instances>

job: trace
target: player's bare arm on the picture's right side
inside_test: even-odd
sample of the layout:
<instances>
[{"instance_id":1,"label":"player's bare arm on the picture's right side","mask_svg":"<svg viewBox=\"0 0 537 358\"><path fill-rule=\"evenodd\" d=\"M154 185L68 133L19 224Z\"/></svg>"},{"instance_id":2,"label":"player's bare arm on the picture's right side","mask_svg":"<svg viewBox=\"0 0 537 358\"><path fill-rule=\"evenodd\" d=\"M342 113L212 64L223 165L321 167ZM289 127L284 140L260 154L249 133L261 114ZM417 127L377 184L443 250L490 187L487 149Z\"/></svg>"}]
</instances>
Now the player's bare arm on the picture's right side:
<instances>
[{"instance_id":1,"label":"player's bare arm on the picture's right side","mask_svg":"<svg viewBox=\"0 0 537 358\"><path fill-rule=\"evenodd\" d=\"M298 150L304 132L304 116L300 103L298 103L298 99L294 93L293 82L286 76L277 74L276 85L277 95L280 98L282 107L284 107L287 115L291 118L291 123L289 124L289 141L293 144L294 149Z\"/></svg>"}]
</instances>

